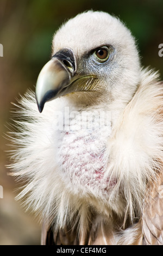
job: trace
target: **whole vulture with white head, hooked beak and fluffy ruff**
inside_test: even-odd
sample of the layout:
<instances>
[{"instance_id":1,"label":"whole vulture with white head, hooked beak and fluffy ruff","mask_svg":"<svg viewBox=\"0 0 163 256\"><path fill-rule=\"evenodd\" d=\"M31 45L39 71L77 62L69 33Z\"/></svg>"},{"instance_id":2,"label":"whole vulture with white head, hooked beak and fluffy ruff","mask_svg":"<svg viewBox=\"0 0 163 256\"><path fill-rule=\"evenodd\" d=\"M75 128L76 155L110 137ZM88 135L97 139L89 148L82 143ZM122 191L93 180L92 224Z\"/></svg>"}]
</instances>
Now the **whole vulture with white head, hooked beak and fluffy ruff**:
<instances>
[{"instance_id":1,"label":"whole vulture with white head, hooked beak and fluffy ruff","mask_svg":"<svg viewBox=\"0 0 163 256\"><path fill-rule=\"evenodd\" d=\"M120 19L90 10L58 29L9 135L42 245L163 244L162 105Z\"/></svg>"}]
</instances>

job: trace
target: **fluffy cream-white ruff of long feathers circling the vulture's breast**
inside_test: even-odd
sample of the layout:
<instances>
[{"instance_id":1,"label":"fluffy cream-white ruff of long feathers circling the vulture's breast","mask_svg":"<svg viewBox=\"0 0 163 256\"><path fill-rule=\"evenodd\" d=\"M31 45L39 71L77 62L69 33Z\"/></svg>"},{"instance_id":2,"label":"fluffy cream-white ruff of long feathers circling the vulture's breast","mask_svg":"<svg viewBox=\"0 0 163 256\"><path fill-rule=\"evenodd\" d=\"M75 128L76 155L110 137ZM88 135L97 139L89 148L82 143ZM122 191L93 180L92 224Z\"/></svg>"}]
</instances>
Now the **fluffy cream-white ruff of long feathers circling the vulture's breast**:
<instances>
[{"instance_id":1,"label":"fluffy cream-white ruff of long feathers circling the vulture's breast","mask_svg":"<svg viewBox=\"0 0 163 256\"><path fill-rule=\"evenodd\" d=\"M114 176L117 184L109 200L101 200L93 195L81 198L67 190L49 143L49 138L55 140L52 103L40 115L34 94L28 93L17 111L23 117L23 121L16 121L19 131L11 134L16 148L11 157L12 175L27 181L17 198L25 198L27 209L39 213L41 220L55 223L57 229L78 223L79 230L84 227L85 232L95 212L106 221L111 220L113 212L121 217L122 223L128 216L132 222L139 219L146 187L162 168L162 95L158 75L142 71L140 85L108 139L104 176Z\"/></svg>"}]
</instances>

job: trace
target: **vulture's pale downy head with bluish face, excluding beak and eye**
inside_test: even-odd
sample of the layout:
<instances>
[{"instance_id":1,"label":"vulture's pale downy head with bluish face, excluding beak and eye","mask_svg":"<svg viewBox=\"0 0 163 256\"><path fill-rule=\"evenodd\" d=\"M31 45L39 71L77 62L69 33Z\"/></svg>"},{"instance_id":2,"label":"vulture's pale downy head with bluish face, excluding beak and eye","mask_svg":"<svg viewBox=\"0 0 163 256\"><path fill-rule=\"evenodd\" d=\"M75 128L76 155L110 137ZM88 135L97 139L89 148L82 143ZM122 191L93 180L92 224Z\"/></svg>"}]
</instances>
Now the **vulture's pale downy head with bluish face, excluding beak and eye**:
<instances>
[{"instance_id":1,"label":"vulture's pale downy head with bluish face, excluding beak and eye","mask_svg":"<svg viewBox=\"0 0 163 256\"><path fill-rule=\"evenodd\" d=\"M99 63L93 53L105 45L111 48L110 57ZM131 99L140 82L140 60L133 36L119 19L102 11L77 15L54 35L53 54L66 47L74 52L77 72L96 75L109 101Z\"/></svg>"}]
</instances>

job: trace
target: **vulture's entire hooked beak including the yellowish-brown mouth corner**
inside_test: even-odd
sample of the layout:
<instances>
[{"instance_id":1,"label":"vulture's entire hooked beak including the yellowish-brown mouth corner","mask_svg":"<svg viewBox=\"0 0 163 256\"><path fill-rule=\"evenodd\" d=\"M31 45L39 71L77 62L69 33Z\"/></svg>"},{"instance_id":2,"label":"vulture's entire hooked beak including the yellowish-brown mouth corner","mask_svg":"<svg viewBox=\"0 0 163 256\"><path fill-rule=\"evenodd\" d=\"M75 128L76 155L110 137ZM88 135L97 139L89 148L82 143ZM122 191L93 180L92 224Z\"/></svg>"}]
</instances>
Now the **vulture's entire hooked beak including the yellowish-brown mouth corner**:
<instances>
[{"instance_id":1,"label":"vulture's entire hooked beak including the yellowish-brown mouth corner","mask_svg":"<svg viewBox=\"0 0 163 256\"><path fill-rule=\"evenodd\" d=\"M43 66L36 82L36 101L40 113L46 101L56 99L72 92L93 91L94 75L77 75L76 59L70 48L64 48L54 54Z\"/></svg>"}]
</instances>

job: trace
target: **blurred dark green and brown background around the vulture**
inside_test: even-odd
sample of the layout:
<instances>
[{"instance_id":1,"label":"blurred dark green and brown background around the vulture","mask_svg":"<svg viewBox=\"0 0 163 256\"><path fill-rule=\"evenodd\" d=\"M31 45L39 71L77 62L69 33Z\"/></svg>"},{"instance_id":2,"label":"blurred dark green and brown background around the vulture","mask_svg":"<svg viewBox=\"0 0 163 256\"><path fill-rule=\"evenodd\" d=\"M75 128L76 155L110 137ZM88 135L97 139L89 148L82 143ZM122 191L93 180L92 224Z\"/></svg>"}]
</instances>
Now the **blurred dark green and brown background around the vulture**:
<instances>
[{"instance_id":1,"label":"blurred dark green and brown background around the vulture","mask_svg":"<svg viewBox=\"0 0 163 256\"><path fill-rule=\"evenodd\" d=\"M5 133L12 105L27 88L34 89L42 66L51 57L54 32L62 22L85 10L103 10L126 23L137 40L143 66L160 70L163 79L162 0L0 0L0 245L39 245L39 223L15 201L17 182L7 175L9 150Z\"/></svg>"}]
</instances>

